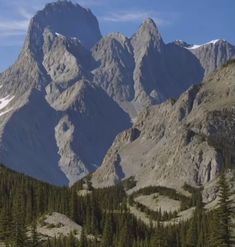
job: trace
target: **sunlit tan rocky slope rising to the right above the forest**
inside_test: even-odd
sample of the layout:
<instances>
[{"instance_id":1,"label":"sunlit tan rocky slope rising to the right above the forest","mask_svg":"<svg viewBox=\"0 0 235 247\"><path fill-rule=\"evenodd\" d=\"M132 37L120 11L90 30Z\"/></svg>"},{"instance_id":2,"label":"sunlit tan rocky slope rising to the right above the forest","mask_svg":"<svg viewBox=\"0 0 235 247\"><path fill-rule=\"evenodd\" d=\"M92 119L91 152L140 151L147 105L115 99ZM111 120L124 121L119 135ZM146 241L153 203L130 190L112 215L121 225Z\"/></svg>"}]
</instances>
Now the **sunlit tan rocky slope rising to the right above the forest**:
<instances>
[{"instance_id":1,"label":"sunlit tan rocky slope rising to the right above the forest","mask_svg":"<svg viewBox=\"0 0 235 247\"><path fill-rule=\"evenodd\" d=\"M137 188L205 185L235 165L235 63L174 102L151 106L119 134L92 176L94 186L134 176ZM136 138L133 131L138 130Z\"/></svg>"}]
</instances>

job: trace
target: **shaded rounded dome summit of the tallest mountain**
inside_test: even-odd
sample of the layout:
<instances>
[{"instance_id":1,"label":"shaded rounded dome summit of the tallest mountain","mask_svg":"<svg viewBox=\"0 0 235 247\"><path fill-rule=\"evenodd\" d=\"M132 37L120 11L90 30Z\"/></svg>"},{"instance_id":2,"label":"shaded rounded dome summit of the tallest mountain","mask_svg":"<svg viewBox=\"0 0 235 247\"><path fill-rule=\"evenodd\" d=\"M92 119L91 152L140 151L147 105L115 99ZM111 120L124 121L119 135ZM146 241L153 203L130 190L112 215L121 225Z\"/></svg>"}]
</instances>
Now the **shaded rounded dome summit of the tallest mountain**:
<instances>
[{"instance_id":1,"label":"shaded rounded dome summit of the tallest mountain","mask_svg":"<svg viewBox=\"0 0 235 247\"><path fill-rule=\"evenodd\" d=\"M49 3L38 11L30 22L28 40L40 45L37 40L41 39L45 28L66 37L79 38L86 48L91 48L101 38L98 21L92 12L70 1Z\"/></svg>"}]
</instances>

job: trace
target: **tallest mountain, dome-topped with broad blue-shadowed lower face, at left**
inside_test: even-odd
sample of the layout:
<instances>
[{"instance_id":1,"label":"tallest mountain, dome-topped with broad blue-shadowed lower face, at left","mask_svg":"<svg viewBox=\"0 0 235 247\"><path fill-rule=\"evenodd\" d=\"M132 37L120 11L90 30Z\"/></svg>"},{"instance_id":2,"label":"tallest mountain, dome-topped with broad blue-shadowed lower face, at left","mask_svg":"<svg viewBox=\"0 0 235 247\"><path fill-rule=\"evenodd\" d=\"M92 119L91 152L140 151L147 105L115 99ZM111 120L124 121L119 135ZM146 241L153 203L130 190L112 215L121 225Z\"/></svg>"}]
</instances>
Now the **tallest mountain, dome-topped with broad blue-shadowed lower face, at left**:
<instances>
[{"instance_id":1,"label":"tallest mountain, dome-topped with broad blue-shadowed lower face, at left","mask_svg":"<svg viewBox=\"0 0 235 247\"><path fill-rule=\"evenodd\" d=\"M0 77L1 162L44 181L73 183L130 127L129 116L90 82L86 47L100 37L96 18L77 4L58 1L33 17L17 62Z\"/></svg>"}]
</instances>

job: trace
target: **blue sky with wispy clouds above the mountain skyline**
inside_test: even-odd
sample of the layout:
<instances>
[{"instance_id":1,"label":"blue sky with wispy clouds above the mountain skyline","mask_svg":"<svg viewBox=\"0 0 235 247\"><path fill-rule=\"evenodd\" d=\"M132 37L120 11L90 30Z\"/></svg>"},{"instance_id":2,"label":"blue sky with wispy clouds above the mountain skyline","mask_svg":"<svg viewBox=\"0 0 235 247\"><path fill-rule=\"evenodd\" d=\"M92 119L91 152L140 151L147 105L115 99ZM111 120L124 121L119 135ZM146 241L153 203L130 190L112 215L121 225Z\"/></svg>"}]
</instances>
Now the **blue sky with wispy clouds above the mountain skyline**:
<instances>
[{"instance_id":1,"label":"blue sky with wispy clouds above the mountain skyline","mask_svg":"<svg viewBox=\"0 0 235 247\"><path fill-rule=\"evenodd\" d=\"M12 64L22 47L29 19L50 1L0 0L0 72ZM235 44L235 0L74 0L97 16L102 34L131 36L141 22L155 20L167 43L192 44L222 38Z\"/></svg>"}]
</instances>

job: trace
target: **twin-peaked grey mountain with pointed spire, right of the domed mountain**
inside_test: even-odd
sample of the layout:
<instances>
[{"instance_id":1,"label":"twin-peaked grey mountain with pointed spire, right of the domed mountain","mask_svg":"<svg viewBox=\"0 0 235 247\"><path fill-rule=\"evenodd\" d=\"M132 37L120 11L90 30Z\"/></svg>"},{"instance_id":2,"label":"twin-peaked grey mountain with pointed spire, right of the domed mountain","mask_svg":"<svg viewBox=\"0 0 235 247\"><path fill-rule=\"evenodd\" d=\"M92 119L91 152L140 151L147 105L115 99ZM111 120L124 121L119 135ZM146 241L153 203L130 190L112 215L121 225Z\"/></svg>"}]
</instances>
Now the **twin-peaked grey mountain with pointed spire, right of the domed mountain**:
<instances>
[{"instance_id":1,"label":"twin-peaked grey mountain with pointed spire, right of the domed mountain","mask_svg":"<svg viewBox=\"0 0 235 247\"><path fill-rule=\"evenodd\" d=\"M132 118L146 106L178 97L203 78L198 59L184 48L166 45L152 19L131 38L120 33L103 37L92 54L99 65L94 82Z\"/></svg>"}]
</instances>

